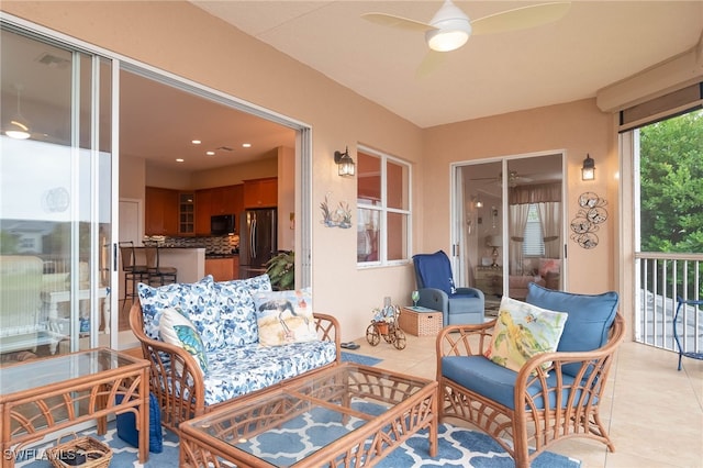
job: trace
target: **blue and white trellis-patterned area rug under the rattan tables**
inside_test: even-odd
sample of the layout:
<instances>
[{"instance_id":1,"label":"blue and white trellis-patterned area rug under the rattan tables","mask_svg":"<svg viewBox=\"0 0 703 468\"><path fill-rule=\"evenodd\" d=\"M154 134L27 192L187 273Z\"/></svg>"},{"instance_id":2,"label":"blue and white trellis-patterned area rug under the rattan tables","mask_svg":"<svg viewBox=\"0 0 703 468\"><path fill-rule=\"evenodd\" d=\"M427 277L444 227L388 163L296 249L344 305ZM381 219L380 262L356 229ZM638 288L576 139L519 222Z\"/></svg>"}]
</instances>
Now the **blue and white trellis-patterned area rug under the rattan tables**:
<instances>
[{"instance_id":1,"label":"blue and white trellis-patterned area rug under the rattan tables","mask_svg":"<svg viewBox=\"0 0 703 468\"><path fill-rule=\"evenodd\" d=\"M138 463L137 449L118 437L114 422L108 425L108 433L104 436L98 436L94 430L80 435L90 435L108 444L113 452L110 466L114 468L172 468L178 466L178 437L169 431L164 431L164 450L160 454L149 454L149 459L145 465ZM65 441L66 438L64 438ZM438 456L431 458L426 433L415 434L376 466L380 468L512 468L515 466L513 459L500 445L480 432L440 424L437 442ZM48 466L46 448L48 447L51 445L25 450L27 459L18 460L15 467L46 468ZM542 454L532 464L532 468L578 468L580 466L581 463L577 459L550 452Z\"/></svg>"}]
</instances>

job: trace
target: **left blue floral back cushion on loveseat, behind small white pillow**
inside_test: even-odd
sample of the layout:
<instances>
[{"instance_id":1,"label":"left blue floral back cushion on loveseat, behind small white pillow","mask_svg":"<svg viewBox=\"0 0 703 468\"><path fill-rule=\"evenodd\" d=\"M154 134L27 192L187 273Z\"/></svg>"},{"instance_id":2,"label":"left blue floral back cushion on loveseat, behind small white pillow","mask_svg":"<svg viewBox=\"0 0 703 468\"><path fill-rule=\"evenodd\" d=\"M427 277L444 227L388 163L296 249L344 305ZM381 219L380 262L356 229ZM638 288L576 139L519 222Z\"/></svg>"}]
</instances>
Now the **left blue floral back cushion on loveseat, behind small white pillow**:
<instances>
[{"instance_id":1,"label":"left blue floral back cushion on loveseat, behind small white pillow","mask_svg":"<svg viewBox=\"0 0 703 468\"><path fill-rule=\"evenodd\" d=\"M137 291L144 316L144 332L149 338L159 339L159 321L166 309L180 309L191 320L208 352L222 347L220 313L213 307L212 276L193 283L176 282L153 288L138 283Z\"/></svg>"}]
</instances>

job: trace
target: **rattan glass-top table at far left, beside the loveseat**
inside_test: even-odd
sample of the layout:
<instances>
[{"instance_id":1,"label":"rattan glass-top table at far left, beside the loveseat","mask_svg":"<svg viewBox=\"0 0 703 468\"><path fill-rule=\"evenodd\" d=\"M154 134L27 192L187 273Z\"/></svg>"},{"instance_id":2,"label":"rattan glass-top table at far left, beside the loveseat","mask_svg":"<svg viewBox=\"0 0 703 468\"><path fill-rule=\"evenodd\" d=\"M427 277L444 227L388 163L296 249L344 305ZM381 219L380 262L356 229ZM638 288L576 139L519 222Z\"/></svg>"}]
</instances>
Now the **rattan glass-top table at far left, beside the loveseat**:
<instances>
[{"instance_id":1,"label":"rattan glass-top table at far left, beside the loveseat","mask_svg":"<svg viewBox=\"0 0 703 468\"><path fill-rule=\"evenodd\" d=\"M14 466L25 445L86 421L97 420L104 434L108 414L127 411L140 431L140 463L146 463L148 385L147 360L110 348L0 367L0 467Z\"/></svg>"}]
</instances>

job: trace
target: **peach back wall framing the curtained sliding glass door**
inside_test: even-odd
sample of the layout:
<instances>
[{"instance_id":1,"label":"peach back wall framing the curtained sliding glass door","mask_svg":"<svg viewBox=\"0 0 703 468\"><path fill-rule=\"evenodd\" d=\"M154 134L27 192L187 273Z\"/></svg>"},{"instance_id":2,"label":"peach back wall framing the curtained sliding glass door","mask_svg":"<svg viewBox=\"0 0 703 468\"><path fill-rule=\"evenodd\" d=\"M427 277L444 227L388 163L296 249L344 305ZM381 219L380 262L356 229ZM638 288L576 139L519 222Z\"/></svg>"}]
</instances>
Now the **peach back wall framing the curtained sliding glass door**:
<instances>
[{"instance_id":1,"label":"peach back wall framing the curtained sliding glass door","mask_svg":"<svg viewBox=\"0 0 703 468\"><path fill-rule=\"evenodd\" d=\"M566 203L569 223L576 218L578 197L592 191L609 201L610 219L600 226L598 247L585 250L570 238L565 288L577 292L603 292L615 285L612 258L613 227L617 205L617 152L613 147L612 116L595 107L594 99L550 105L503 115L442 125L424 131L423 154L432 155L421 183L427 197L422 200L423 247L426 252L449 252L449 165L482 158L513 157L542 152L567 155ZM587 153L595 159L596 178L581 180ZM429 156L427 156L429 159ZM435 209L433 209L435 207ZM447 207L437 210L436 207ZM567 236L570 234L568 232Z\"/></svg>"}]
</instances>

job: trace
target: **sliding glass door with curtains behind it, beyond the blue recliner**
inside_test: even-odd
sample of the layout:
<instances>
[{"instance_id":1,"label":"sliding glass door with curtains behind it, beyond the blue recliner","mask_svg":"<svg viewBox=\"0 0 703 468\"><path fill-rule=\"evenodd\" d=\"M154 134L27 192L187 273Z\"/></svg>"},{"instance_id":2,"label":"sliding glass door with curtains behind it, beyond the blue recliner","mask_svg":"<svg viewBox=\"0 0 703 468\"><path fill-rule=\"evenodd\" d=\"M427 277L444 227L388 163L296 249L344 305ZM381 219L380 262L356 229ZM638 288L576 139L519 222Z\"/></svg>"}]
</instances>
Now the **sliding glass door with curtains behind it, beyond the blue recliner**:
<instances>
[{"instance_id":1,"label":"sliding glass door with curtains behind it, beyond the blue recliner","mask_svg":"<svg viewBox=\"0 0 703 468\"><path fill-rule=\"evenodd\" d=\"M467 164L457 176L462 283L489 309L504 293L524 300L529 282L562 289L562 154Z\"/></svg>"}]
</instances>

